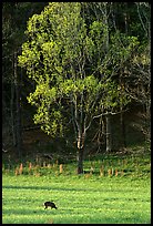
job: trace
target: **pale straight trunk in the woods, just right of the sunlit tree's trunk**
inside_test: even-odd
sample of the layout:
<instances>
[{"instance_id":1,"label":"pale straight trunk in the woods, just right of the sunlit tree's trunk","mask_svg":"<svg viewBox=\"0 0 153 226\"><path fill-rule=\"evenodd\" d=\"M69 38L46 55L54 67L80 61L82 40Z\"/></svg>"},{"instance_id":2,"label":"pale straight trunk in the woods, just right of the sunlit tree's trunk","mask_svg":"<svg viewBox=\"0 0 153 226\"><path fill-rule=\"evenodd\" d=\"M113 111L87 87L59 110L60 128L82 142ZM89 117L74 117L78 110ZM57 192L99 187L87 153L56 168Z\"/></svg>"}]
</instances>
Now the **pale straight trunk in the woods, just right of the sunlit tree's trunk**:
<instances>
[{"instance_id":1,"label":"pale straight trunk in the woods, just right of the sunlit tree's trunk","mask_svg":"<svg viewBox=\"0 0 153 226\"><path fill-rule=\"evenodd\" d=\"M111 130L111 115L106 114L106 152L112 151L112 130Z\"/></svg>"}]
</instances>

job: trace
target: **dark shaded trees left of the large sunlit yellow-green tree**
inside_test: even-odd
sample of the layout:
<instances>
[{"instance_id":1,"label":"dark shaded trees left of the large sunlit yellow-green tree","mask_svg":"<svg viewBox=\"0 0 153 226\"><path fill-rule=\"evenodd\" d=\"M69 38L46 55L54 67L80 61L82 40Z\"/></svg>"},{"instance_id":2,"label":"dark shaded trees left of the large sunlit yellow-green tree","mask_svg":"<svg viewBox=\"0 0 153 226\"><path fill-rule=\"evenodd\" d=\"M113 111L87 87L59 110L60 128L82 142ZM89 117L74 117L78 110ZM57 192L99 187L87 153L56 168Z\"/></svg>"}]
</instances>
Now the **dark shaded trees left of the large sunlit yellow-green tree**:
<instances>
[{"instance_id":1,"label":"dark shaded trees left of the large sunlit yellow-green tree","mask_svg":"<svg viewBox=\"0 0 153 226\"><path fill-rule=\"evenodd\" d=\"M28 18L41 11L45 4L45 2L2 3L2 140L7 148L17 147L19 157L22 156L23 74L17 60L26 38Z\"/></svg>"}]
</instances>

